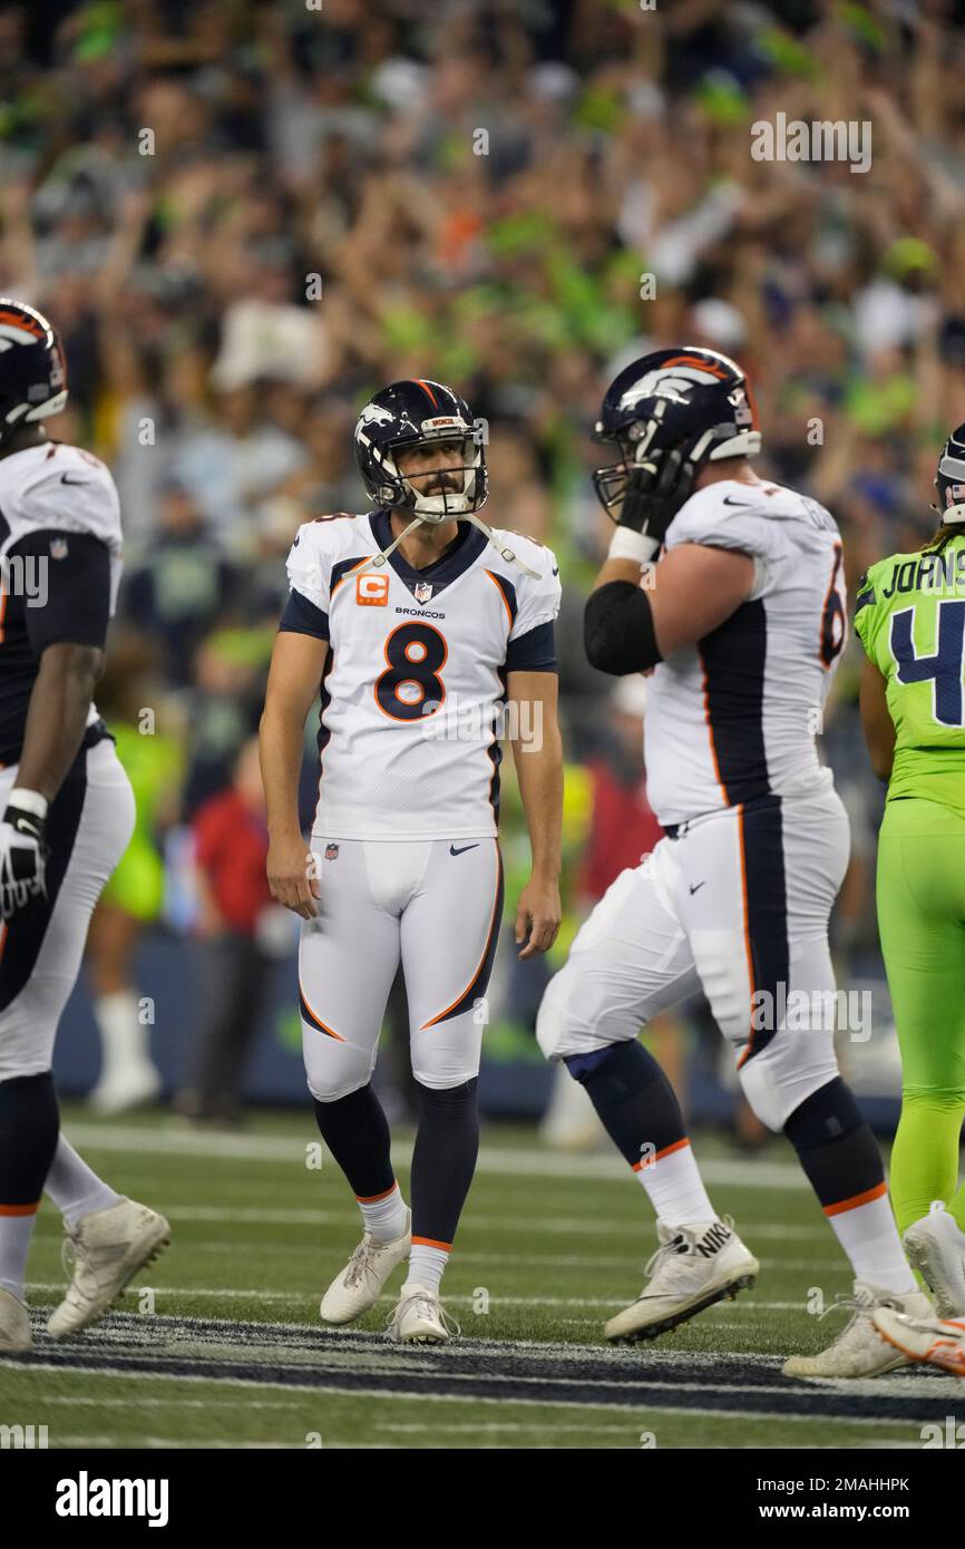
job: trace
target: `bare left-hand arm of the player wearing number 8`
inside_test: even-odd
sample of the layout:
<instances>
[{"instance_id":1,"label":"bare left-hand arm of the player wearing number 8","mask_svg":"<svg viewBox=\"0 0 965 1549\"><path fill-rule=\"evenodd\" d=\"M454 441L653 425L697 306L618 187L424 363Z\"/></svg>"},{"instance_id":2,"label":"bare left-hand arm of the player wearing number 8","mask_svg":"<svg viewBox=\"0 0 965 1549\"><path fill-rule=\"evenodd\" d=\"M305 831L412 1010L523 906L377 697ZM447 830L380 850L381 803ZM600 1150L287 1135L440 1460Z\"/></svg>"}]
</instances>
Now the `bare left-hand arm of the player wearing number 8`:
<instances>
[{"instance_id":1,"label":"bare left-hand arm of the player wearing number 8","mask_svg":"<svg viewBox=\"0 0 965 1549\"><path fill-rule=\"evenodd\" d=\"M318 694L328 641L282 632L271 655L265 711L259 728L268 807L268 886L271 897L304 920L318 911L318 880L308 875L308 847L299 827L297 790L305 717Z\"/></svg>"}]
</instances>

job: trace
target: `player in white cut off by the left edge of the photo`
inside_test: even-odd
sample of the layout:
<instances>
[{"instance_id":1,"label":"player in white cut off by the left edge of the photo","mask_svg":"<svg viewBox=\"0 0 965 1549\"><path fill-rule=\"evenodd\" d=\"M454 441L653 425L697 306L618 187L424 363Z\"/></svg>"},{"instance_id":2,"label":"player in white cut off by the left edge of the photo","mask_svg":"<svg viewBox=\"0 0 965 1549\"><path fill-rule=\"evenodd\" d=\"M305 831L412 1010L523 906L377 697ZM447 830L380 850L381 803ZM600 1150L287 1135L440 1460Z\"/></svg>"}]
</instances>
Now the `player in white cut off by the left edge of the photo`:
<instances>
[{"instance_id":1,"label":"player in white cut off by the left edge of the photo","mask_svg":"<svg viewBox=\"0 0 965 1549\"><path fill-rule=\"evenodd\" d=\"M0 1351L33 1345L23 1278L43 1190L74 1258L54 1338L93 1323L169 1239L59 1134L51 1075L90 915L133 829L91 703L121 576L118 491L37 423L65 401L56 331L0 301Z\"/></svg>"}]
</instances>

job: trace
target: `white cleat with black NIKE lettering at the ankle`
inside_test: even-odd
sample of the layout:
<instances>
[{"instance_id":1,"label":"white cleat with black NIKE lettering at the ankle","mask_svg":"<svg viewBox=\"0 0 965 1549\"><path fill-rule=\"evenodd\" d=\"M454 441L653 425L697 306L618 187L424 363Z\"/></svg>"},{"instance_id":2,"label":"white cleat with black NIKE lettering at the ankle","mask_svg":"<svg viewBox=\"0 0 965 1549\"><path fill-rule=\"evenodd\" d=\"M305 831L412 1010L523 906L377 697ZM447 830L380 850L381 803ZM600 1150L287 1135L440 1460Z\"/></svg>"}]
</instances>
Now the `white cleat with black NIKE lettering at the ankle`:
<instances>
[{"instance_id":1,"label":"white cleat with black NIKE lettering at the ankle","mask_svg":"<svg viewBox=\"0 0 965 1549\"><path fill-rule=\"evenodd\" d=\"M644 1270L649 1279L637 1301L610 1318L606 1337L627 1343L652 1340L716 1301L725 1297L733 1301L739 1290L748 1290L761 1266L733 1227L730 1218L685 1227L658 1221L660 1247Z\"/></svg>"}]
</instances>

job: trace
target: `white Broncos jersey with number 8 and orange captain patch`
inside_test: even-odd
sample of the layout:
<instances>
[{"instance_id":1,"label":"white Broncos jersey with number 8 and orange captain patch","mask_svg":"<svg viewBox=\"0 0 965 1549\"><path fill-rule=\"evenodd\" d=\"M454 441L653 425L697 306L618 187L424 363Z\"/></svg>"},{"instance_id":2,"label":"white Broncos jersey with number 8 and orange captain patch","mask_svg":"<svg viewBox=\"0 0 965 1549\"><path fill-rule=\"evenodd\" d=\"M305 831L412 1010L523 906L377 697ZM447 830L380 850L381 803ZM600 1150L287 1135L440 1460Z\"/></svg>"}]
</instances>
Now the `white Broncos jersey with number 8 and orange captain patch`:
<instances>
[{"instance_id":1,"label":"white Broncos jersey with number 8 and orange captain patch","mask_svg":"<svg viewBox=\"0 0 965 1549\"><path fill-rule=\"evenodd\" d=\"M434 565L415 570L397 548L366 575L355 572L392 542L387 511L299 528L280 627L330 641L316 836L497 832L505 674L555 671L561 587L548 548L516 533L496 536L539 579L469 522Z\"/></svg>"}]
</instances>

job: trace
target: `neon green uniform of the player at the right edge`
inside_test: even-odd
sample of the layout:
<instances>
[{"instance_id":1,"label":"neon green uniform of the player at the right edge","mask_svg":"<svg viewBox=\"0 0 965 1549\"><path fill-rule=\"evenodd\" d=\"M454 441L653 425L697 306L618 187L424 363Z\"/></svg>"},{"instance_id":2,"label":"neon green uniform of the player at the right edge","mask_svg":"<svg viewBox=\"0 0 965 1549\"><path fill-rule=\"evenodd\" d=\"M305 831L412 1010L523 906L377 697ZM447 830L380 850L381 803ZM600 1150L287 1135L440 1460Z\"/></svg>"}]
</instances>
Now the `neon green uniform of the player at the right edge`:
<instances>
[{"instance_id":1,"label":"neon green uniform of the player at the right edge","mask_svg":"<svg viewBox=\"0 0 965 1549\"><path fill-rule=\"evenodd\" d=\"M901 1231L934 1200L965 1230L965 533L872 565L855 630L895 726L877 886L903 1070L891 1196Z\"/></svg>"}]
</instances>

